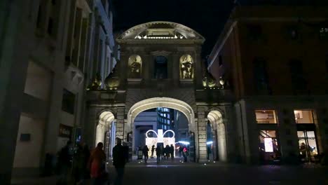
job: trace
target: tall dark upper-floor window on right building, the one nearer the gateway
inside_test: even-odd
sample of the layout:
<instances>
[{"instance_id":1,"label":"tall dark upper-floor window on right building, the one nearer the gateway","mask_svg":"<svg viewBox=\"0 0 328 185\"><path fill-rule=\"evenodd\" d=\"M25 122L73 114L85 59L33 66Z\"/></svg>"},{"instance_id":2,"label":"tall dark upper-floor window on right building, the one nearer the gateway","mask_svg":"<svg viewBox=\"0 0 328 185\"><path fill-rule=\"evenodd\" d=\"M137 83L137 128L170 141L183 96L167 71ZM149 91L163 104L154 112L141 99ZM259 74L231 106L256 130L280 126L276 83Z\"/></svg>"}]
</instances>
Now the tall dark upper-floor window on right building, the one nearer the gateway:
<instances>
[{"instance_id":1,"label":"tall dark upper-floor window on right building, the one nearer the gateway","mask_svg":"<svg viewBox=\"0 0 328 185\"><path fill-rule=\"evenodd\" d=\"M254 60L253 62L254 85L257 92L269 93L268 73L266 71L266 61Z\"/></svg>"}]
</instances>

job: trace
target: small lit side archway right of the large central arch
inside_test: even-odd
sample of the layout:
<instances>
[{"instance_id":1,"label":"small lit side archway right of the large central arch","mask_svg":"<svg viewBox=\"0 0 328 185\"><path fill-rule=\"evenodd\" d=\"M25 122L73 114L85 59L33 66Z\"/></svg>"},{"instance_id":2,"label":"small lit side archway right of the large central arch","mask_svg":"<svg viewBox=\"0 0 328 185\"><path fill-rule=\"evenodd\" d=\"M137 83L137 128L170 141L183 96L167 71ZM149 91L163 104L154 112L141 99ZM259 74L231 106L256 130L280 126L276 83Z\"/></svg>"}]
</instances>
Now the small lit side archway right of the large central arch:
<instances>
[{"instance_id":1,"label":"small lit side archway right of the large central arch","mask_svg":"<svg viewBox=\"0 0 328 185\"><path fill-rule=\"evenodd\" d=\"M210 111L210 113L207 115L207 119L210 125L210 127L207 127L207 130L210 130L210 132L212 132L213 159L227 161L226 129L222 120L222 114L217 110L213 110ZM210 141L207 141L207 144L209 142Z\"/></svg>"}]
</instances>

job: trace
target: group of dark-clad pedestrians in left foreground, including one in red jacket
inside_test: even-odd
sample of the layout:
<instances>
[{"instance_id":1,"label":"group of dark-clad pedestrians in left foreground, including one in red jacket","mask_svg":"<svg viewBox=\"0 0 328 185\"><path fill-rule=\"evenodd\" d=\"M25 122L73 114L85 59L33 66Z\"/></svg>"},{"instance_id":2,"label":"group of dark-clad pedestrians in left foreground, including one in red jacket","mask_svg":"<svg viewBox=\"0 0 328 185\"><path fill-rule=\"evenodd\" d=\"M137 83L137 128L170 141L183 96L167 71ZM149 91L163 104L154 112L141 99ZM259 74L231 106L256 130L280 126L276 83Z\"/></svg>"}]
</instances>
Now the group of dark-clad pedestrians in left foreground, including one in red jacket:
<instances>
[{"instance_id":1,"label":"group of dark-clad pedestrians in left foreground, including one in red jacket","mask_svg":"<svg viewBox=\"0 0 328 185\"><path fill-rule=\"evenodd\" d=\"M71 142L67 142L58 153L60 175L57 184L82 184L86 179L91 179L91 184L95 185L108 184L110 174L107 172L107 158L103 148L104 144L99 142L90 152L86 144L79 143L74 150ZM122 184L127 161L128 146L123 146L121 139L117 138L113 148L113 165L117 174L115 184Z\"/></svg>"}]
</instances>

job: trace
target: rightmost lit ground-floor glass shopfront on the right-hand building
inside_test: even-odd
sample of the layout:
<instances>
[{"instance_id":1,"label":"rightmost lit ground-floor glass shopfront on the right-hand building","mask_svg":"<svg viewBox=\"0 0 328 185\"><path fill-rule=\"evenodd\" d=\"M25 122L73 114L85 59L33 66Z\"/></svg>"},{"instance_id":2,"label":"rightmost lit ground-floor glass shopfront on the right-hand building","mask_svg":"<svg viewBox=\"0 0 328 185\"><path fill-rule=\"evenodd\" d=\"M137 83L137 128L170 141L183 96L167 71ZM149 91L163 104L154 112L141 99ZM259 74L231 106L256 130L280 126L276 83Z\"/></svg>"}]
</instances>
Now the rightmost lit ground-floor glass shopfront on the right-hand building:
<instances>
[{"instance_id":1,"label":"rightmost lit ground-floor glass shopfront on the right-hand building","mask_svg":"<svg viewBox=\"0 0 328 185\"><path fill-rule=\"evenodd\" d=\"M302 130L297 131L299 137L299 154L301 161L314 162L317 156L317 139L315 131Z\"/></svg>"}]
</instances>

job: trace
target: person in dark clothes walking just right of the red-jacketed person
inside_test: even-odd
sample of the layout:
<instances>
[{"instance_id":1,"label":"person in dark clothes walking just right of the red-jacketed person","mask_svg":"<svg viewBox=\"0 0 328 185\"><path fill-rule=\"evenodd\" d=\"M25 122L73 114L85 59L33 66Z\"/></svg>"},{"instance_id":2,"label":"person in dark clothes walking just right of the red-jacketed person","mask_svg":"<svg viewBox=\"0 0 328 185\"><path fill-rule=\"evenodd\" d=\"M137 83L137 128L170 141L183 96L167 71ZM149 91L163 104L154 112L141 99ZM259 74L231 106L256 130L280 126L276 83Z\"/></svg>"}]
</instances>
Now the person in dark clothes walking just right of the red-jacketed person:
<instances>
[{"instance_id":1,"label":"person in dark clothes walking just right of the red-jacketed person","mask_svg":"<svg viewBox=\"0 0 328 185\"><path fill-rule=\"evenodd\" d=\"M125 153L125 149L122 146L122 140L120 138L116 138L116 146L113 148L113 165L115 166L117 177L115 179L116 185L120 185L123 183L123 174L124 167L127 161L127 154Z\"/></svg>"}]
</instances>

